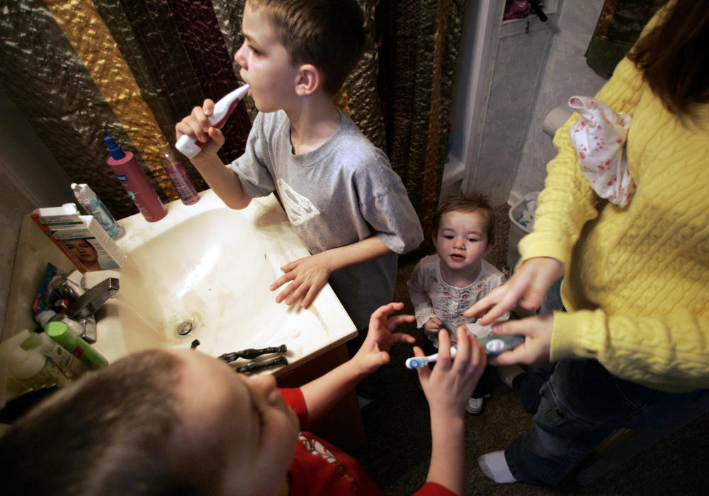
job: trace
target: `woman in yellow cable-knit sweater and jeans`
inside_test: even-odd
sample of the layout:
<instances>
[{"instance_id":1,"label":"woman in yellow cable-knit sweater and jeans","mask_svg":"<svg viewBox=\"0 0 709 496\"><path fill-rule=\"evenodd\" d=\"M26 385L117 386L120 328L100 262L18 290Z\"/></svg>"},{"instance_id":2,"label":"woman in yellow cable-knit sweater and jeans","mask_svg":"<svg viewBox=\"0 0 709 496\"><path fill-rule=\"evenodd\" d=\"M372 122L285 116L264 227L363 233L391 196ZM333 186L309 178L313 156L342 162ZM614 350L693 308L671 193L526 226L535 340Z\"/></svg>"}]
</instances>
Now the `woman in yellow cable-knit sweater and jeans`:
<instances>
[{"instance_id":1,"label":"woman in yellow cable-knit sweater and jeans","mask_svg":"<svg viewBox=\"0 0 709 496\"><path fill-rule=\"evenodd\" d=\"M523 346L494 365L556 363L530 431L479 464L554 485L621 426L657 424L709 388L709 0L670 1L596 95L632 116L627 206L600 202L569 127L554 137L513 277L464 313L534 309L563 277L566 312L496 324Z\"/></svg>"}]
</instances>

